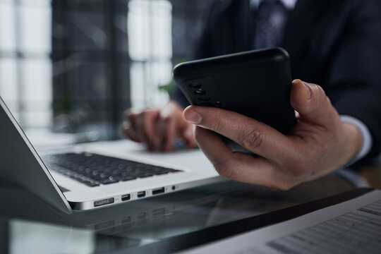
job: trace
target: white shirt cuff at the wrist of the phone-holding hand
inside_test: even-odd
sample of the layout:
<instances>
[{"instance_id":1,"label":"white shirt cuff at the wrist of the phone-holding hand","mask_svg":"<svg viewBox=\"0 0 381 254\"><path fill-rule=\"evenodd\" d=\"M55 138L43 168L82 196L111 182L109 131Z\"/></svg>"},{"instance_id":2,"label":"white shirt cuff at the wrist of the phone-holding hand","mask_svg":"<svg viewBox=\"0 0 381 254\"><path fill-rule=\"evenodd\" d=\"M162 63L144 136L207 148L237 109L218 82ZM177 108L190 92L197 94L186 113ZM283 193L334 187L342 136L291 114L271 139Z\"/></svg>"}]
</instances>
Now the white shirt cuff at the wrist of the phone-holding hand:
<instances>
[{"instance_id":1,"label":"white shirt cuff at the wrist of the phone-holding hand","mask_svg":"<svg viewBox=\"0 0 381 254\"><path fill-rule=\"evenodd\" d=\"M361 133L361 137L363 138L363 142L361 144L360 150L358 150L357 154L353 156L352 159L350 159L349 162L345 164L345 166L349 166L350 164L353 164L357 162L359 159L362 159L363 157L365 157L365 155L368 155L368 152L370 151L370 148L372 147L373 140L372 140L372 135L370 135L370 131L368 127L365 126L365 124L362 121L356 119L353 116L347 116L347 115L341 115L340 119L344 123L351 123L353 124L353 126L356 126L356 128L358 128L358 131L360 131Z\"/></svg>"}]
</instances>

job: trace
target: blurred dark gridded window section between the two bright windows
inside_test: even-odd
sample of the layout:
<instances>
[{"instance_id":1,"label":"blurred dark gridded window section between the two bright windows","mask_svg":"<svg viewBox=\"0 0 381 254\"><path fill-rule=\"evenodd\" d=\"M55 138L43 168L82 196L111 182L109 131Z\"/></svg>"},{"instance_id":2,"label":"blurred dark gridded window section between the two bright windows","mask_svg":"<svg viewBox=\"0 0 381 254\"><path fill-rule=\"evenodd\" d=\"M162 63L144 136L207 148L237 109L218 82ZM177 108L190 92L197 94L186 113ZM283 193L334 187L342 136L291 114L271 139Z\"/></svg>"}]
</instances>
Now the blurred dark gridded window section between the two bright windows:
<instances>
[{"instance_id":1,"label":"blurred dark gridded window section between the two bright windows","mask_svg":"<svg viewBox=\"0 0 381 254\"><path fill-rule=\"evenodd\" d=\"M52 11L54 131L119 138L130 106L128 1L53 0Z\"/></svg>"}]
</instances>

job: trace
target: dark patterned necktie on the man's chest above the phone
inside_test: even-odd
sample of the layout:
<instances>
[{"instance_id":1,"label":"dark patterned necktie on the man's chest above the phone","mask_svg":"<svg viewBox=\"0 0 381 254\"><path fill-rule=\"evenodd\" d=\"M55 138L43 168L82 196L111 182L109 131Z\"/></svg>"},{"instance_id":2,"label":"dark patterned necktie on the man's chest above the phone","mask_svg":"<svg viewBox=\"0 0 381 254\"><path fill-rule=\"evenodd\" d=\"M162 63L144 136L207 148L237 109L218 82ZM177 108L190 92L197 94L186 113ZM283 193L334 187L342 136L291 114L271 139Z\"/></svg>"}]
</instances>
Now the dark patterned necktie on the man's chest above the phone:
<instances>
[{"instance_id":1,"label":"dark patterned necktie on the man's chest above the phone","mask_svg":"<svg viewBox=\"0 0 381 254\"><path fill-rule=\"evenodd\" d=\"M274 47L282 39L287 10L279 0L262 0L258 7L254 47Z\"/></svg>"}]
</instances>

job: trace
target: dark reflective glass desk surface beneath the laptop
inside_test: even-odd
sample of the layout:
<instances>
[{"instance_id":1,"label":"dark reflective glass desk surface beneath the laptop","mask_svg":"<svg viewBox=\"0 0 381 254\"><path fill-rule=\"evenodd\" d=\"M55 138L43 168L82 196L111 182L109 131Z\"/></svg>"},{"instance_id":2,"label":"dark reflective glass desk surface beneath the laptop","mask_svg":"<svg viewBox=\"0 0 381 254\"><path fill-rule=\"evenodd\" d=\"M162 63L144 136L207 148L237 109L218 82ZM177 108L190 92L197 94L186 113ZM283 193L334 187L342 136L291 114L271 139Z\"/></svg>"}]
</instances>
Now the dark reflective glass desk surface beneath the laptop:
<instances>
[{"instance_id":1,"label":"dark reflective glass desk surface beneath the laptop","mask_svg":"<svg viewBox=\"0 0 381 254\"><path fill-rule=\"evenodd\" d=\"M203 229L353 188L341 174L290 191L226 181L68 215L0 179L0 253L134 253L169 238L191 232L197 236Z\"/></svg>"}]
</instances>

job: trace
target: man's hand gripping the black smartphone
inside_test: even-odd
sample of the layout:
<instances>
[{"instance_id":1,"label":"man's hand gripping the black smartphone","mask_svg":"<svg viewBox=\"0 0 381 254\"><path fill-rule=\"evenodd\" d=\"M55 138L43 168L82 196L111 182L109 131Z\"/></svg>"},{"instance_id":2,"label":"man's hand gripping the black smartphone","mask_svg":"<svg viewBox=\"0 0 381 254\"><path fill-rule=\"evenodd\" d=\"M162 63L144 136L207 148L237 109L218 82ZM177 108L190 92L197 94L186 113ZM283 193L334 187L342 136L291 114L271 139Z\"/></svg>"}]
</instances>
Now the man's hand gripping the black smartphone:
<instances>
[{"instance_id":1,"label":"man's hand gripping the black smartphone","mask_svg":"<svg viewBox=\"0 0 381 254\"><path fill-rule=\"evenodd\" d=\"M361 147L361 133L341 121L318 85L294 80L290 101L298 123L284 135L265 123L213 107L190 106L183 116L214 168L226 178L288 190L343 166ZM232 152L216 133L258 156Z\"/></svg>"}]
</instances>

